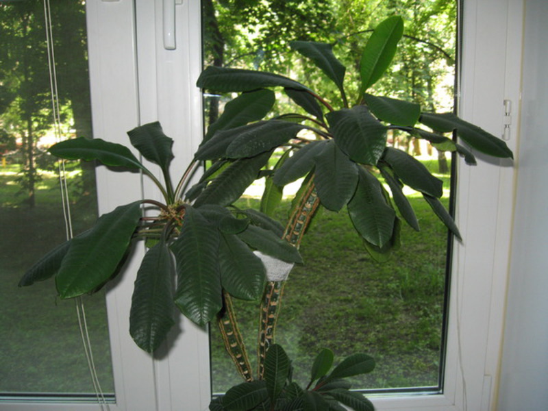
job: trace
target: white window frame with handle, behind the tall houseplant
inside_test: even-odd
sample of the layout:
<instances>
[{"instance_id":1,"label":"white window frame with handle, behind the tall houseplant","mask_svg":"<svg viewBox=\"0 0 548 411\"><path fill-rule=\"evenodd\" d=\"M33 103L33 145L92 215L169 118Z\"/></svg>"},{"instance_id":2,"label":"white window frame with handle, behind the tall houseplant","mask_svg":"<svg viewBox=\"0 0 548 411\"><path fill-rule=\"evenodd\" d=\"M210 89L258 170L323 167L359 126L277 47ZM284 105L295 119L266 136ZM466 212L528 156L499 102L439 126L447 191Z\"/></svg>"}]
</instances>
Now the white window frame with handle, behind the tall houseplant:
<instances>
[{"instance_id":1,"label":"white window frame with handle, behind the tall houseplant","mask_svg":"<svg viewBox=\"0 0 548 411\"><path fill-rule=\"evenodd\" d=\"M173 0L175 1L175 0ZM94 134L127 143L126 132L159 120L175 139L175 167L201 140L200 1L176 6L176 43L164 49L162 0L87 0ZM465 0L460 115L495 135L504 99L519 102L523 0ZM137 29L136 29L137 27ZM508 141L516 150L516 137ZM444 392L371 397L378 410L494 409L503 334L514 174L508 164L458 164L457 222L463 236L453 257ZM182 171L174 170L174 175ZM158 193L140 176L97 169L99 212ZM136 262L129 269L136 271ZM134 279L107 293L116 404L112 411L207 410L208 334L189 321L171 338L169 354L151 358L129 337ZM85 403L1 403L6 411L100 410Z\"/></svg>"}]
</instances>

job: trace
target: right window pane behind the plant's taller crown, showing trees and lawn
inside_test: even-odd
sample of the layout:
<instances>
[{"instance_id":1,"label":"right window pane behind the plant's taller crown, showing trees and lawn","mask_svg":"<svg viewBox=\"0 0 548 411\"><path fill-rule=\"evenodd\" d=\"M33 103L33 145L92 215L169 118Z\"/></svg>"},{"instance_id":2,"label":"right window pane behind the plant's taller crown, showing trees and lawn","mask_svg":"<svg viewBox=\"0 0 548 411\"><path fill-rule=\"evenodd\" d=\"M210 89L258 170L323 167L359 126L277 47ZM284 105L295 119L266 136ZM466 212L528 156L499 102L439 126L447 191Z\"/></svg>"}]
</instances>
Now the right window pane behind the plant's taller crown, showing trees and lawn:
<instances>
[{"instance_id":1,"label":"right window pane behind the plant's taller crown, showing trees and lawn","mask_svg":"<svg viewBox=\"0 0 548 411\"><path fill-rule=\"evenodd\" d=\"M453 110L454 0L202 0L202 5L204 66L286 75L334 105L339 99L336 86L324 76L312 75L316 70L290 51L290 40L334 44L334 54L347 67L347 95L355 98L360 84L356 68L371 29L388 16L401 15L405 36L388 75L371 93L414 101L425 112ZM205 102L207 124L222 112L225 96L206 95ZM275 107L280 113L288 112L290 101L280 92ZM451 155L425 140L395 131L389 132L388 142L413 155L443 180L442 203L449 208ZM246 206L258 208L261 184L264 179L247 191L241 200ZM288 187L284 195L290 194ZM449 277L447 229L422 195L408 194L421 231L414 231L402 220L401 247L386 262L375 262L366 253L346 210L323 209L314 217L300 247L305 264L292 270L284 288L275 339L293 360L294 377L301 382L308 381L316 354L328 347L335 352L336 361L356 352L369 353L377 361L375 371L355 379L353 388L442 389ZM289 207L290 200L284 200L277 210L282 225ZM257 303L235 301L235 305L247 349L253 352L257 347ZM218 334L212 327L214 393L239 382Z\"/></svg>"}]
</instances>

